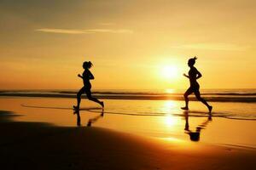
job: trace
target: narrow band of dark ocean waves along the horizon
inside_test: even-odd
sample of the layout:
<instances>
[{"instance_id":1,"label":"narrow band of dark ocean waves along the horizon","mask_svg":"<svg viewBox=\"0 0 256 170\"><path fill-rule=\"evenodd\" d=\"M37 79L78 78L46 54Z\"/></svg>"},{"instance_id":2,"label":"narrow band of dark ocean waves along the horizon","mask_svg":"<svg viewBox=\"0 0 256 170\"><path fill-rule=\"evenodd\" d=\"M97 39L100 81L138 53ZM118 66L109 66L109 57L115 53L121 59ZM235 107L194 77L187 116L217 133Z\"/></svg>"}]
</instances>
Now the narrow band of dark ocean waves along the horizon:
<instances>
[{"instance_id":1,"label":"narrow band of dark ocean waves along the horizon","mask_svg":"<svg viewBox=\"0 0 256 170\"><path fill-rule=\"evenodd\" d=\"M76 98L78 90L0 90L0 96ZM150 99L183 100L184 90L92 90L99 99ZM256 88L253 89L202 89L201 96L207 101L255 103ZM191 94L190 100L196 100Z\"/></svg>"}]
</instances>

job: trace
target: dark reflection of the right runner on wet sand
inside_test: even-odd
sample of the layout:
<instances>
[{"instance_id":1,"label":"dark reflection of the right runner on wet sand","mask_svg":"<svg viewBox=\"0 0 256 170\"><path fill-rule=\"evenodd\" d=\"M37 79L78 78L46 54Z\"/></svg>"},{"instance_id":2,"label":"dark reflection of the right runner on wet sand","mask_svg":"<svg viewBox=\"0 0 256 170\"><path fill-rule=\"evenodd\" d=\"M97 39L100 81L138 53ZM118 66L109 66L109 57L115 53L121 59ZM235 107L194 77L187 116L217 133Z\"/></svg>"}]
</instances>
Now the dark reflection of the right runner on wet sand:
<instances>
[{"instance_id":1,"label":"dark reflection of the right runner on wet sand","mask_svg":"<svg viewBox=\"0 0 256 170\"><path fill-rule=\"evenodd\" d=\"M209 114L207 120L205 122L202 122L200 125L198 125L195 129L195 132L192 132L190 129L189 129L189 112L188 111L184 111L184 117L185 117L185 120L186 120L186 124L185 124L185 133L189 134L189 138L191 141L199 141L200 140L200 133L201 133L201 129L204 129L207 127L207 124L209 122L212 122L212 114Z\"/></svg>"}]
</instances>

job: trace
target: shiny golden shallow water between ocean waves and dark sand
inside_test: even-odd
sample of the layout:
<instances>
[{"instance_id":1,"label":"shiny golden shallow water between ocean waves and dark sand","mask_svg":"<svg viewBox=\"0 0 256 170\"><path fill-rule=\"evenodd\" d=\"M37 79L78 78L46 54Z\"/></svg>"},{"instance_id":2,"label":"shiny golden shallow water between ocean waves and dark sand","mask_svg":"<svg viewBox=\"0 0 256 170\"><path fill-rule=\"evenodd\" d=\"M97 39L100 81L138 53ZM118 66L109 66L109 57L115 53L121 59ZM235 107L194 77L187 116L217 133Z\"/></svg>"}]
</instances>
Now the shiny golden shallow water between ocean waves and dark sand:
<instances>
[{"instance_id":1,"label":"shiny golden shallow water between ocean waves and dark sand","mask_svg":"<svg viewBox=\"0 0 256 170\"><path fill-rule=\"evenodd\" d=\"M256 148L256 105L253 103L212 102L212 116L200 102L190 102L190 111L182 111L183 101L104 99L102 109L82 100L81 127L105 127L125 133L211 144L229 144ZM73 114L75 99L0 98L0 111L14 111L15 121L49 122L57 126L77 126Z\"/></svg>"}]
</instances>

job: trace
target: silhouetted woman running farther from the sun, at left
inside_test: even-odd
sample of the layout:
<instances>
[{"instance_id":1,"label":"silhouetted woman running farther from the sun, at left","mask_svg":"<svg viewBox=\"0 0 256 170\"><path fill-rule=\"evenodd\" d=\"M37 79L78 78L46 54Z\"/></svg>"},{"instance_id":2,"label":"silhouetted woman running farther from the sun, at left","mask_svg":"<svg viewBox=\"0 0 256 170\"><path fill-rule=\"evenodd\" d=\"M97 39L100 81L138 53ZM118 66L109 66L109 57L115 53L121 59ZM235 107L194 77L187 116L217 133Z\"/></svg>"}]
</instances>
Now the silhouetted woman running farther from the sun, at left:
<instances>
[{"instance_id":1,"label":"silhouetted woman running farther from the sun, at left","mask_svg":"<svg viewBox=\"0 0 256 170\"><path fill-rule=\"evenodd\" d=\"M90 80L94 79L94 76L91 74L90 72L90 67L92 66L92 63L90 61L85 61L83 64L83 68L84 68L84 72L83 72L83 76L81 76L80 74L78 75L78 77L82 78L84 81L84 87L81 88L79 90L79 93L77 94L77 99L78 99L78 105L75 106L73 105L74 110L79 111L80 108L80 102L81 102L81 95L82 94L86 94L87 98L90 99L91 101L94 101L100 105L102 105L102 107L104 107L104 103L96 98L93 98L91 96L91 92L90 92L90 88L91 88L91 84L90 84Z\"/></svg>"}]
</instances>

